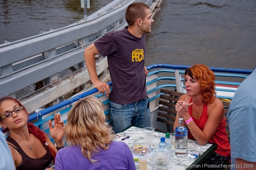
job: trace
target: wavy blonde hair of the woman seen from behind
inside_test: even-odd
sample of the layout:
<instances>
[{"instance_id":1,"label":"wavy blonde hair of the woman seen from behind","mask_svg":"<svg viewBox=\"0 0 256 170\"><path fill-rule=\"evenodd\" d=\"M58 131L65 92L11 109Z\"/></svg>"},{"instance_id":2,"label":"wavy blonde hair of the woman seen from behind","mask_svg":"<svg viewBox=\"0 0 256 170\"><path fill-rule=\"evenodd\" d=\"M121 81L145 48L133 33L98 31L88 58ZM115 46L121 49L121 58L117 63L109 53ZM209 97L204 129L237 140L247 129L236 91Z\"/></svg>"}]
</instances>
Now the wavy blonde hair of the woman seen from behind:
<instances>
[{"instance_id":1,"label":"wavy blonde hair of the woman seen from behind","mask_svg":"<svg viewBox=\"0 0 256 170\"><path fill-rule=\"evenodd\" d=\"M107 150L114 138L112 127L105 122L102 102L95 97L78 100L68 113L68 121L64 128L67 144L78 145L82 154L92 163L92 159L100 150Z\"/></svg>"}]
</instances>

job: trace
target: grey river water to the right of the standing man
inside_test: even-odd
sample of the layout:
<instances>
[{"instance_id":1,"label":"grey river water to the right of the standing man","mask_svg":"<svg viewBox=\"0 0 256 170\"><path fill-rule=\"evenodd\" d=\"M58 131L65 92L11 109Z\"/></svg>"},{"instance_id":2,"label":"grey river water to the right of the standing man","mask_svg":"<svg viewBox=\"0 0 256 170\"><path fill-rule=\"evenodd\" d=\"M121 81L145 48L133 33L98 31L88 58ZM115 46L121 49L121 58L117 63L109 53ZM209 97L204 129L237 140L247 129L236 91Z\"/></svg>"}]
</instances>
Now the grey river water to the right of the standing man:
<instances>
[{"instance_id":1,"label":"grey river water to the right of the standing man","mask_svg":"<svg viewBox=\"0 0 256 170\"><path fill-rule=\"evenodd\" d=\"M255 0L165 0L154 20L146 65L256 66Z\"/></svg>"}]
</instances>

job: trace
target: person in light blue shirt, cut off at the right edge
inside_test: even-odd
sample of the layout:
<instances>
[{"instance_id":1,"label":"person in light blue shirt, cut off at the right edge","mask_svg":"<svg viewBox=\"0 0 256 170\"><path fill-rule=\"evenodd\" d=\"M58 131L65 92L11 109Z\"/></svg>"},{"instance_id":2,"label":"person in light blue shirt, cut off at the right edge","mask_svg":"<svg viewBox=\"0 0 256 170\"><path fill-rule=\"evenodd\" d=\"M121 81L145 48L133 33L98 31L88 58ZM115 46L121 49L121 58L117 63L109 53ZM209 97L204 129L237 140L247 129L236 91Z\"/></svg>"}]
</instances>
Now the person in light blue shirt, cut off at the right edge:
<instances>
[{"instance_id":1,"label":"person in light blue shirt, cut off at the right edge","mask_svg":"<svg viewBox=\"0 0 256 170\"><path fill-rule=\"evenodd\" d=\"M256 68L239 85L229 105L227 116L233 165L231 169L255 169Z\"/></svg>"}]
</instances>

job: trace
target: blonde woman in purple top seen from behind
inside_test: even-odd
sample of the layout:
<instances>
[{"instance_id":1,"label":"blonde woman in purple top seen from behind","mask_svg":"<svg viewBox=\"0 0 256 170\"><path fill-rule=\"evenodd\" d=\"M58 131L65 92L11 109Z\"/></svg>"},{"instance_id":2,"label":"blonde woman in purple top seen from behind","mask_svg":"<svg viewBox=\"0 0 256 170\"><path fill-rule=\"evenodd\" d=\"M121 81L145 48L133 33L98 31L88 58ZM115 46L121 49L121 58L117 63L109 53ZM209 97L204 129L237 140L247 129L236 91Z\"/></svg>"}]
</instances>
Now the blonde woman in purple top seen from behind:
<instances>
[{"instance_id":1,"label":"blonde woman in purple top seen from behind","mask_svg":"<svg viewBox=\"0 0 256 170\"><path fill-rule=\"evenodd\" d=\"M64 133L69 147L57 153L56 170L136 170L128 145L112 141L113 130L105 122L99 99L85 97L77 101L68 113Z\"/></svg>"}]
</instances>

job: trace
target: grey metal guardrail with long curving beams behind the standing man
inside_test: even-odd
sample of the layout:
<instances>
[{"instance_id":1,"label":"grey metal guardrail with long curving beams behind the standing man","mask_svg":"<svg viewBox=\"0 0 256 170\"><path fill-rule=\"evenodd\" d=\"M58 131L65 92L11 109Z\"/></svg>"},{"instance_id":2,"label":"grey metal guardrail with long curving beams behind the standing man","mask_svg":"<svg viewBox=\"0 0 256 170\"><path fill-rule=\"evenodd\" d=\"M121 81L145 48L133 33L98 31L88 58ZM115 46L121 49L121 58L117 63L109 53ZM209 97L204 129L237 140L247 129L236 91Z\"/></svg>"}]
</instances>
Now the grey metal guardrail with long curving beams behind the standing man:
<instances>
[{"instance_id":1,"label":"grey metal guardrail with long curving beams behind the standing man","mask_svg":"<svg viewBox=\"0 0 256 170\"><path fill-rule=\"evenodd\" d=\"M115 0L88 16L60 29L0 45L0 97L48 78L48 84L58 80L57 74L78 64L84 68L83 46L87 46L108 31L126 25L124 13L133 2L148 5L154 0Z\"/></svg>"}]
</instances>

